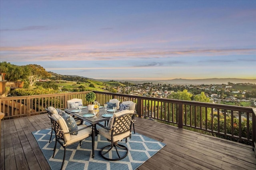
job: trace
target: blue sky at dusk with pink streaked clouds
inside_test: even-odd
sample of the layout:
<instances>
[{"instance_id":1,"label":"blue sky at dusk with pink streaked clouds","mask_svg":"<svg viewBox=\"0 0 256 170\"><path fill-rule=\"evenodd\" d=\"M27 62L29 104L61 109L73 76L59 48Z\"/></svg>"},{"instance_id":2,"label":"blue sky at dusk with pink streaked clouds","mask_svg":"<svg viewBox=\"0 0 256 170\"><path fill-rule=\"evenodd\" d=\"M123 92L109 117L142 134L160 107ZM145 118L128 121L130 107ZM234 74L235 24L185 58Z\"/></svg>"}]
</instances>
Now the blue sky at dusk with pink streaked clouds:
<instances>
[{"instance_id":1,"label":"blue sky at dusk with pink streaked clouds","mask_svg":"<svg viewBox=\"0 0 256 170\"><path fill-rule=\"evenodd\" d=\"M105 80L256 78L256 0L0 0L0 62Z\"/></svg>"}]
</instances>

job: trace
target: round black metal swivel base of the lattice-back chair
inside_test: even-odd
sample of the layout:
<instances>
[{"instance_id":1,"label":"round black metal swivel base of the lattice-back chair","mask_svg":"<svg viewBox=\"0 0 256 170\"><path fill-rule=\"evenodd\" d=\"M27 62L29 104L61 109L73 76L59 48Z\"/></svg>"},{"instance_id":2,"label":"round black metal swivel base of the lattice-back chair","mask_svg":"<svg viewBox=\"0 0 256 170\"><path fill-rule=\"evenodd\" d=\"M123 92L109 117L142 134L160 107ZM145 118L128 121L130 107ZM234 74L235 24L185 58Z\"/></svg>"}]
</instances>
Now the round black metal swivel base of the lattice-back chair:
<instances>
[{"instance_id":1,"label":"round black metal swivel base of the lattice-back chair","mask_svg":"<svg viewBox=\"0 0 256 170\"><path fill-rule=\"evenodd\" d=\"M106 151L106 152L103 152L103 150L108 148L108 147L110 147L110 149L108 149L108 151ZM113 147L116 149L116 154L117 154L118 157L116 156L116 154L112 154L112 158L106 157L105 154L107 154L109 151L111 151ZM120 148L120 149L118 149L118 148ZM120 156L118 150L121 151L122 153L126 152L125 155ZM113 145L113 146L107 145L106 147L102 148L102 150L100 151L100 154L101 154L102 158L104 158L106 160L112 160L112 161L121 160L121 159L125 158L128 155L128 148L125 147L124 145L118 145L118 144ZM116 156L116 158L113 158L114 156Z\"/></svg>"}]
</instances>

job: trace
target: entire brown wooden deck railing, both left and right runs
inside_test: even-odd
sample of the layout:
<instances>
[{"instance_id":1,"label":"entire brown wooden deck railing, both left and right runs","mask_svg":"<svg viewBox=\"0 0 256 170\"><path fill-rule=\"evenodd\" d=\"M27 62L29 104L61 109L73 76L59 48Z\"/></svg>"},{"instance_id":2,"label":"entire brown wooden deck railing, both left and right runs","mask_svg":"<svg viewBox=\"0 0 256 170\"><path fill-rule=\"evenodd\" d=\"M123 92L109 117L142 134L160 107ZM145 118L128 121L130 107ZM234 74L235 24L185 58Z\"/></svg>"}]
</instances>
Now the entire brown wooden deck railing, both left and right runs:
<instances>
[{"instance_id":1,"label":"entire brown wooden deck railing, both left and right runs","mask_svg":"<svg viewBox=\"0 0 256 170\"><path fill-rule=\"evenodd\" d=\"M133 96L127 94L98 92L96 100L103 105L112 98L136 103L139 117L150 118L180 128L198 129L206 133L222 135L254 145L256 141L256 108ZM80 98L87 105L88 92L47 94L0 98L0 110L4 119L45 113L44 108L66 108L66 101Z\"/></svg>"}]
</instances>

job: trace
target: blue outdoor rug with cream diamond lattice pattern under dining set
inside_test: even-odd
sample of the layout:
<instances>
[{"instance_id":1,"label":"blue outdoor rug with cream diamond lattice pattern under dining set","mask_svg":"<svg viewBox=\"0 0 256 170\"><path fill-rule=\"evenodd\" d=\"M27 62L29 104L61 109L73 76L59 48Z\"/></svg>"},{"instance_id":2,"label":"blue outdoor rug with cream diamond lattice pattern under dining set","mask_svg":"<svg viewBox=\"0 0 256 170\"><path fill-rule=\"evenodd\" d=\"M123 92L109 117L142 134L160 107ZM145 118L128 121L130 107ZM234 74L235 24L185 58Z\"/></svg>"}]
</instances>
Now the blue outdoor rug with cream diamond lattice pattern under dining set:
<instances>
[{"instance_id":1,"label":"blue outdoor rug with cream diamond lattice pattern under dining set","mask_svg":"<svg viewBox=\"0 0 256 170\"><path fill-rule=\"evenodd\" d=\"M60 169L64 156L64 148L57 142L56 153L54 158L52 158L55 145L55 135L54 133L52 134L52 141L49 143L51 129L34 131L32 134L34 135L52 170ZM108 161L102 158L100 150L104 146L110 145L110 142L100 135L95 137L95 155L94 158L92 158L92 138L88 137L82 141L81 146L79 146L78 142L66 148L66 159L63 169L134 170L166 145L138 133L133 133L132 138L127 138L127 140L127 143L125 143L125 140L119 142L119 144L128 147L129 152L126 158L118 161Z\"/></svg>"}]
</instances>

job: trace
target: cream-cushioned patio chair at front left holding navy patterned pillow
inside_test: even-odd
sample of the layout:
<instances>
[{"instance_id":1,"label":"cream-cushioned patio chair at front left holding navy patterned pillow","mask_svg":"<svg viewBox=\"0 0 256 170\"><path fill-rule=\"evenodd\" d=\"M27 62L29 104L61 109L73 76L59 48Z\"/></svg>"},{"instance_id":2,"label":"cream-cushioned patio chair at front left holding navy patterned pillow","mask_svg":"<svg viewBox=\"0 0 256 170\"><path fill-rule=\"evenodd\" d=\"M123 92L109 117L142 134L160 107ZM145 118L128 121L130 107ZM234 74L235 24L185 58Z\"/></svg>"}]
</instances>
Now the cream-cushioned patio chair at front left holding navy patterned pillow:
<instances>
[{"instance_id":1,"label":"cream-cushioned patio chair at front left holding navy patterned pillow","mask_svg":"<svg viewBox=\"0 0 256 170\"><path fill-rule=\"evenodd\" d=\"M48 116L52 121L52 127L55 132L55 146L52 158L54 158L54 154L56 151L57 141L60 143L62 147L64 147L64 156L61 168L63 168L64 160L66 157L66 147L79 142L80 146L82 144L82 140L90 137L92 135L91 126L80 125L76 131L70 131L66 121L58 114L53 114L52 116ZM75 134L75 135L74 135Z\"/></svg>"}]
</instances>

